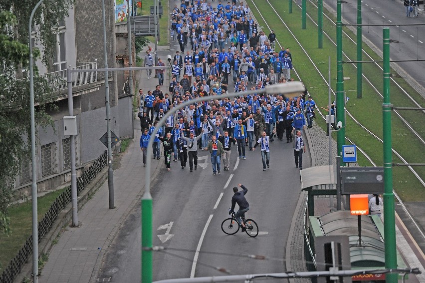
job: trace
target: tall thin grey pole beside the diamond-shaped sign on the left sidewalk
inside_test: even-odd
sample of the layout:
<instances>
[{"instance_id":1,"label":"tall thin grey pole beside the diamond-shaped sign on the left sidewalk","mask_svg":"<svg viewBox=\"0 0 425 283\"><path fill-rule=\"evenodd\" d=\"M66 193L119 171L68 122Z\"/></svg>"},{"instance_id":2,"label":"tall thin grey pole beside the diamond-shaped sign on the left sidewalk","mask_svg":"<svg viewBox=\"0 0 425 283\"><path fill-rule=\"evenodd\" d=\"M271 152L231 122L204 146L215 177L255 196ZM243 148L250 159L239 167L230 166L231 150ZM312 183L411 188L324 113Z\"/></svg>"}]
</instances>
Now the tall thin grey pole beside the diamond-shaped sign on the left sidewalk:
<instances>
[{"instance_id":1,"label":"tall thin grey pole beside the diamond-shaped sign on the left sidewalk","mask_svg":"<svg viewBox=\"0 0 425 283\"><path fill-rule=\"evenodd\" d=\"M109 105L109 75L108 75L108 54L106 52L106 15L105 0L102 0L102 20L103 20L103 56L105 60L105 106L106 106L106 131L108 142L108 191L109 191L109 209L115 208L114 205L114 170L112 168L112 148L111 148L111 110Z\"/></svg>"}]
</instances>

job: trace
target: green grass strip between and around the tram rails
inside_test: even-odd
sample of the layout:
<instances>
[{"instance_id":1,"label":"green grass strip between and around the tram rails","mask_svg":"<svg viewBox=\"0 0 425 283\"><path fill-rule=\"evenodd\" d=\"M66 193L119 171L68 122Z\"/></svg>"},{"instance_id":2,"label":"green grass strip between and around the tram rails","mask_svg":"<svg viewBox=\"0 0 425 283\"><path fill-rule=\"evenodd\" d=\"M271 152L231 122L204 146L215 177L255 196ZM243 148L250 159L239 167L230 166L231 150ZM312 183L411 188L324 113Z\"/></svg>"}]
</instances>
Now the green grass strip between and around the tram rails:
<instances>
[{"instance_id":1,"label":"green grass strip between and around the tram rails","mask_svg":"<svg viewBox=\"0 0 425 283\"><path fill-rule=\"evenodd\" d=\"M284 19L288 28L294 33L302 47L305 48L308 55L311 57L314 64L316 64L319 72L310 62L301 46L289 33L288 29L283 25L276 12L271 9L270 4L266 0L255 0L255 5L261 12L261 15L256 10L252 0L247 0L247 3L251 6L251 9L258 21L260 26L263 26L263 30L268 33L268 27L265 24L262 17L267 19L267 24L271 29L276 32L277 40L280 41L285 47L289 47L292 53L293 63L297 71L299 72L302 81L306 85L309 92L313 95L314 100L318 106L325 106L328 98L328 86L326 85L322 74L327 78L328 74L328 56L331 57L331 86L336 89L336 46L324 36L323 48L317 47L317 26L314 22L307 20L307 29L301 29L301 10L298 6L294 5L293 13L289 14L285 9L288 6L288 0L269 0L273 7L278 7L279 14ZM282 8L283 7L283 8ZM309 14L317 14L317 9L312 5L309 6ZM262 16L262 17L261 17ZM331 18L332 15L330 15ZM314 19L314 16L313 16ZM332 38L335 36L335 26L331 21L324 18L324 30ZM350 30L345 29L347 33L351 33ZM352 33L351 33L352 34ZM354 37L354 35L352 34ZM355 38L355 37L354 37ZM335 40L333 38L333 40ZM365 45L365 44L364 44ZM373 51L367 46L363 47L368 53L373 54ZM343 36L343 50L347 53L350 58L355 58L356 46L347 37ZM378 58L376 54L371 55L374 58ZM364 55L365 57L365 55ZM344 58L346 60L346 58ZM392 71L394 72L394 70ZM356 98L357 84L356 80L356 69L352 64L344 65L344 76L351 77L352 80L344 81L344 90L347 96L351 99L347 104L347 109L353 116L362 123L365 127L375 133L377 136L382 138L382 98L378 95L375 89L367 83L363 82L363 98ZM379 92L382 93L382 70L376 65L364 64L363 73L369 78ZM406 86L406 82L398 79L403 86ZM409 86L406 86L409 94L415 93ZM424 104L424 99L419 94L413 94L415 99L421 104ZM411 106L411 102L407 101L406 95L402 93L397 86L392 83L391 85L391 101L395 105ZM404 113L403 113L404 114ZM422 114L420 114L422 115ZM418 132L424 136L424 126L421 122L421 117L418 115L409 114L408 121L415 125ZM324 121L317 119L316 122L325 129ZM408 162L421 163L423 155L417 154L421 152L423 144L409 132L406 125L397 118L395 115L392 117L392 131L393 131L393 148L395 148ZM346 135L353 140L355 144L360 146L366 154L368 154L376 164L383 164L383 146L382 143L372 137L363 128L358 126L350 117L347 115L347 128ZM336 133L334 134L334 138ZM409 141L409 146L407 142ZM396 156L393 156L394 162L400 162ZM359 159L361 166L370 165L366 159ZM416 167L415 170L420 176L425 176L425 168ZM422 184L417 178L410 172L408 168L396 167L393 170L394 175L394 189L399 193L404 201L425 201L425 190Z\"/></svg>"}]
</instances>

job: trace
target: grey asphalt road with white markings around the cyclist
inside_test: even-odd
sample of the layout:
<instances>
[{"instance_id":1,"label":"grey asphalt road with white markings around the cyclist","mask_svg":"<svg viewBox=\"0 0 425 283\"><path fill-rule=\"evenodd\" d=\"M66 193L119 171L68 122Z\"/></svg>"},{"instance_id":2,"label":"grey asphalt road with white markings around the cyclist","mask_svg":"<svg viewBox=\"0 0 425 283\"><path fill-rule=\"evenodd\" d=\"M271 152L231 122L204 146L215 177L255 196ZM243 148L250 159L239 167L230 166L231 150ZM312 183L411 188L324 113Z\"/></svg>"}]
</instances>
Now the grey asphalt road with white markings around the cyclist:
<instances>
[{"instance_id":1,"label":"grey asphalt road with white markings around the cyclist","mask_svg":"<svg viewBox=\"0 0 425 283\"><path fill-rule=\"evenodd\" d=\"M197 171L190 173L188 167L181 170L180 163L176 162L172 163L171 172L161 168L152 190L153 245L170 250L154 252L154 281L191 276L197 247L210 218L199 250L195 277L225 275L214 268L224 268L231 275L284 272L287 237L300 193L299 169L294 166L291 146L285 141L272 143L270 169L265 172L262 171L258 147L247 152L246 160L238 159L236 147L232 148L231 170L221 171L220 175L212 175L209 154L205 151L199 151L201 157L208 156L200 162L207 165L204 165L205 169L199 165ZM304 156L304 167L309 167L308 152ZM163 163L163 160L159 162ZM237 162L237 169L233 170ZM232 187L237 183L248 188L246 198L250 210L246 216L258 223L260 232L265 232L256 238L240 231L233 236L221 231L221 222L228 217ZM222 198L217 204L221 193ZM162 243L156 235L164 235L166 229L157 228L171 222L169 234L174 236ZM111 282L140 281L140 231L140 206L137 206L108 250L102 276L111 276ZM247 255L263 255L269 260L253 260Z\"/></svg>"}]
</instances>

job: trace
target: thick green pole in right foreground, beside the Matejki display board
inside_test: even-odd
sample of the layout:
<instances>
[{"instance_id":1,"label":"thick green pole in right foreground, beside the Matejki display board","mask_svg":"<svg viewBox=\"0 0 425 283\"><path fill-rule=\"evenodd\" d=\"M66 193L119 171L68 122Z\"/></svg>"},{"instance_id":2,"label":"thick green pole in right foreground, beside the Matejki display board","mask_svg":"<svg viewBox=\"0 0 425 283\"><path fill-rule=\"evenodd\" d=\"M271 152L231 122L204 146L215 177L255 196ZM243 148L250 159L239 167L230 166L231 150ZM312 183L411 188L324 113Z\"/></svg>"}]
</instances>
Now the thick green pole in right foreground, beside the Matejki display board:
<instances>
[{"instance_id":1,"label":"thick green pole in right foreground, beside the Matejki display board","mask_svg":"<svg viewBox=\"0 0 425 283\"><path fill-rule=\"evenodd\" d=\"M397 268L396 257L396 219L394 213L393 194L393 152L391 140L391 111L390 102L390 28L383 28L384 55L384 103L382 103L382 125L384 131L384 246L385 267ZM387 283L397 283L397 274L388 274Z\"/></svg>"}]
</instances>

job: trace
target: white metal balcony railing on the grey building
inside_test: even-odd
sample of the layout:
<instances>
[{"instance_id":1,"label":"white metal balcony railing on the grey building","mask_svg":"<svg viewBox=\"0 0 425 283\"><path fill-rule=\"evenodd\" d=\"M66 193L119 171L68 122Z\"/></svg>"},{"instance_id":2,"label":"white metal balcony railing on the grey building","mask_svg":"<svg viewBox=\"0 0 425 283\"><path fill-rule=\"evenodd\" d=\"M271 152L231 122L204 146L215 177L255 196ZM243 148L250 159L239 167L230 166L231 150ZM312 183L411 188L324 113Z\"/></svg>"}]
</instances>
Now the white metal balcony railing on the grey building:
<instances>
[{"instance_id":1,"label":"white metal balcony railing on the grey building","mask_svg":"<svg viewBox=\"0 0 425 283\"><path fill-rule=\"evenodd\" d=\"M87 70L97 68L97 62L79 62L77 64L77 67L71 69ZM45 73L41 76L47 80L47 84L52 91L61 91L67 88L66 70ZM72 86L81 86L90 83L97 83L97 72L72 73Z\"/></svg>"}]
</instances>

